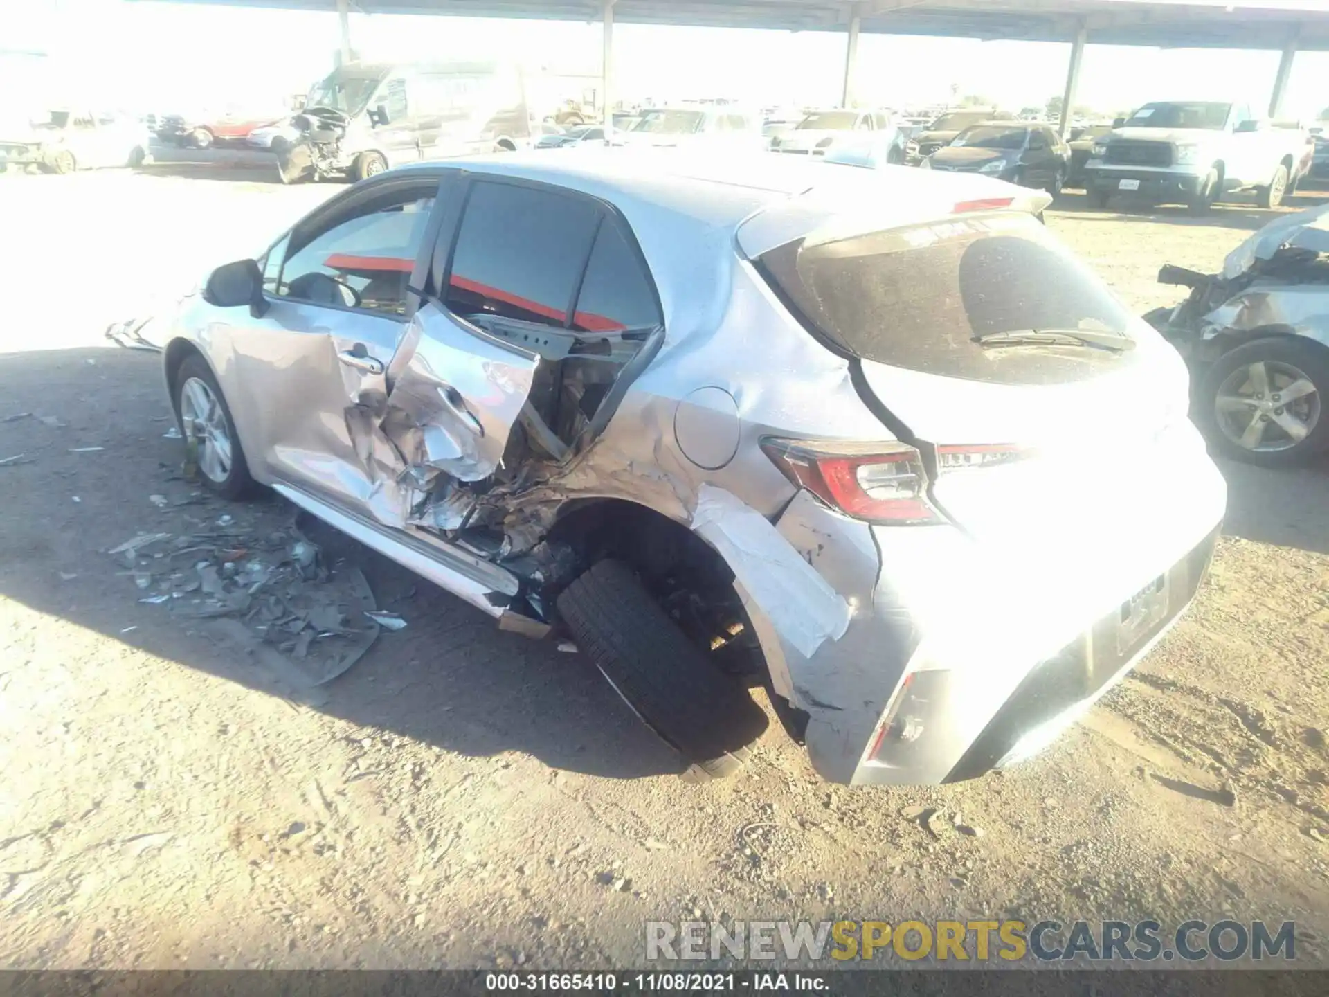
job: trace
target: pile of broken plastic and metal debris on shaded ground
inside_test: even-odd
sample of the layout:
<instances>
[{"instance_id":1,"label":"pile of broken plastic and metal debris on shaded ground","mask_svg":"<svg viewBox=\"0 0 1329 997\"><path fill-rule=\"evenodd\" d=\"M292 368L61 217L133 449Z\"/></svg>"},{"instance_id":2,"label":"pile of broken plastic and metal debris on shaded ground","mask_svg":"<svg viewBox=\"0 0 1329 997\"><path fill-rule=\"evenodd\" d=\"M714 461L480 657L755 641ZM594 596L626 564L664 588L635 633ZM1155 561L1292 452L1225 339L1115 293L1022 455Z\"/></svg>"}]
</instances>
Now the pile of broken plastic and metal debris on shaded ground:
<instances>
[{"instance_id":1,"label":"pile of broken plastic and metal debris on shaded ground","mask_svg":"<svg viewBox=\"0 0 1329 997\"><path fill-rule=\"evenodd\" d=\"M225 514L215 525L182 536L140 533L108 553L150 593L140 602L214 621L206 625L210 634L284 685L330 682L364 655L380 626L405 626L401 617L377 611L359 569L326 565L294 522L258 533Z\"/></svg>"}]
</instances>

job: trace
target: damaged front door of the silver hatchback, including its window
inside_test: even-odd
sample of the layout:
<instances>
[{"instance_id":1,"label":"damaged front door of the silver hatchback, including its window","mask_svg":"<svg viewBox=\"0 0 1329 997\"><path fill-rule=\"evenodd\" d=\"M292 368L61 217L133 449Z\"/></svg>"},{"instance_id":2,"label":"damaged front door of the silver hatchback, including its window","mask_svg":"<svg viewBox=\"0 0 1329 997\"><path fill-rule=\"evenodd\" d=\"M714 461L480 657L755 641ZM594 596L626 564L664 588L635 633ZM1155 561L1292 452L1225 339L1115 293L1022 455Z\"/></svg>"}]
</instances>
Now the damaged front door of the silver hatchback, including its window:
<instances>
[{"instance_id":1,"label":"damaged front door of the silver hatchback, including its window","mask_svg":"<svg viewBox=\"0 0 1329 997\"><path fill-rule=\"evenodd\" d=\"M230 330L247 447L272 477L388 521L404 513L377 472L400 461L364 429L413 310L437 187L437 175L384 178L296 226L264 267L267 312Z\"/></svg>"}]
</instances>

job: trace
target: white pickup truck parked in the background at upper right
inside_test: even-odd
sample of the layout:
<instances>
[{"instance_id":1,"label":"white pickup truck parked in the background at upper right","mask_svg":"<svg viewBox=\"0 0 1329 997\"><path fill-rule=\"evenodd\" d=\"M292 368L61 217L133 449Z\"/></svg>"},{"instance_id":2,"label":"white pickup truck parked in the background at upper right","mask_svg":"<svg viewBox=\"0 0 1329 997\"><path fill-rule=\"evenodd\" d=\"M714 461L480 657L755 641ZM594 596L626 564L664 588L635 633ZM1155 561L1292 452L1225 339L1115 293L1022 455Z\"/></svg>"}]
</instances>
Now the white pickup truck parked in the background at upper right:
<instances>
[{"instance_id":1,"label":"white pickup truck parked in the background at upper right","mask_svg":"<svg viewBox=\"0 0 1329 997\"><path fill-rule=\"evenodd\" d=\"M1096 207L1130 194L1204 214L1237 190L1255 190L1261 207L1277 207L1301 179L1308 141L1300 128L1257 120L1247 104L1146 104L1094 145L1084 189Z\"/></svg>"}]
</instances>

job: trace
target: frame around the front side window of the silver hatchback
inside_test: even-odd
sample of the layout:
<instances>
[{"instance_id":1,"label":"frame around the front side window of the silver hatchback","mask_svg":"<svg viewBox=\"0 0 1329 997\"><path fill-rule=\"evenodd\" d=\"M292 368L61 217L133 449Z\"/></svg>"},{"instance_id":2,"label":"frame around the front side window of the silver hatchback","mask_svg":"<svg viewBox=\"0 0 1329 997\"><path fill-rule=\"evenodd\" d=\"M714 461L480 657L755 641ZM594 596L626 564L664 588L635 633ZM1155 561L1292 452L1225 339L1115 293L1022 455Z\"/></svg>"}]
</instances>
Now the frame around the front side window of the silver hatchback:
<instances>
[{"instance_id":1,"label":"frame around the front side window of the silver hatchback","mask_svg":"<svg viewBox=\"0 0 1329 997\"><path fill-rule=\"evenodd\" d=\"M419 310L420 303L425 294L425 280L429 274L429 249L437 239L439 226L443 223L443 215L440 213L440 205L447 197L447 182L448 177L444 175L443 170L411 170L403 173L397 177L389 177L384 174L381 178L373 178L364 183L358 183L351 190L344 194L339 194L330 201L319 205L310 214L304 215L300 221L292 225L282 235L279 235L268 251L263 254L262 261L259 261L260 270L266 275L266 262L268 254L278 246L286 246L282 254L282 266L276 271L276 286L282 286L282 279L286 277L286 265L291 259L291 245L300 237L299 249L303 250L319 235L326 234L328 230L335 229L342 222L348 218L356 217L358 213L363 213L363 207L367 202L377 201L379 198L387 195L391 191L400 190L408 191L412 189L423 190L429 182L433 183L433 205L429 209L429 218L425 221L424 230L420 237L420 246L416 247L415 259L411 265L411 274L407 278L407 302L405 310L400 315L393 315L385 311L377 311L375 308L363 308L354 304L331 304L327 302L310 302L303 298L291 298L284 294L270 294L267 290L263 291L263 298L271 303L294 303L303 304L312 308L328 308L331 311L347 311L355 315L368 315L375 318L389 319L393 322L407 323ZM424 175L420 175L424 174ZM423 194L421 194L423 197ZM303 238L303 237L308 238ZM299 250L296 250L299 251Z\"/></svg>"}]
</instances>

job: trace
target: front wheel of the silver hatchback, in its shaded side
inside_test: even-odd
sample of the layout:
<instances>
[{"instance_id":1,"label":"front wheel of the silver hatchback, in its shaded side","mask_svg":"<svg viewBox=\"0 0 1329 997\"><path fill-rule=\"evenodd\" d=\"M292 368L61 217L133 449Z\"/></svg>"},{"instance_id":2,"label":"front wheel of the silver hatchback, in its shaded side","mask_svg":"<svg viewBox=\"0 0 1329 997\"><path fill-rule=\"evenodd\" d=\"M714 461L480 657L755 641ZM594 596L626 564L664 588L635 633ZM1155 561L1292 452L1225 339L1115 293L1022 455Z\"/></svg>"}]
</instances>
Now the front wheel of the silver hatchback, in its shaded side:
<instances>
[{"instance_id":1,"label":"front wheel of the silver hatchback, in its shaded side","mask_svg":"<svg viewBox=\"0 0 1329 997\"><path fill-rule=\"evenodd\" d=\"M175 374L175 415L185 437L185 464L197 468L203 487L223 498L239 498L254 487L235 432L235 420L217 378L201 356Z\"/></svg>"}]
</instances>

